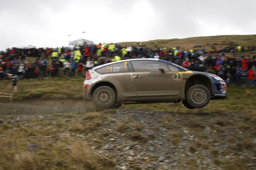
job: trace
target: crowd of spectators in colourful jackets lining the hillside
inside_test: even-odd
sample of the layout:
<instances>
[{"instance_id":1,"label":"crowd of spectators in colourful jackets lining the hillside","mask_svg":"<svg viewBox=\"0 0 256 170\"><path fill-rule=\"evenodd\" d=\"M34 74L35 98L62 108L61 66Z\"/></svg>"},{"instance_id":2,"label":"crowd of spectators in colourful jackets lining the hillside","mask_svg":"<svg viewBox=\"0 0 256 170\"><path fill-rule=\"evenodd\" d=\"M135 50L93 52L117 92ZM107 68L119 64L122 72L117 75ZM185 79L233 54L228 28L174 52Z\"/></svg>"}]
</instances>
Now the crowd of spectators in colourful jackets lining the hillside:
<instances>
[{"instance_id":1,"label":"crowd of spectators in colourful jackets lining the hillside","mask_svg":"<svg viewBox=\"0 0 256 170\"><path fill-rule=\"evenodd\" d=\"M157 44L156 42L154 42ZM210 46L210 45L209 45ZM19 79L47 78L58 76L83 76L83 65L135 59L155 58L174 62L192 71L216 74L226 83L254 85L256 55L243 56L243 46L234 48L204 50L204 45L193 50L175 48L148 48L143 43L121 46L121 44L84 44L73 48L12 48L0 52L0 80L15 75ZM196 49L195 49L196 48ZM247 51L255 51L256 46L248 46ZM237 54L239 53L239 57ZM33 58L28 63L27 59ZM11 76L10 76L11 75Z\"/></svg>"}]
</instances>

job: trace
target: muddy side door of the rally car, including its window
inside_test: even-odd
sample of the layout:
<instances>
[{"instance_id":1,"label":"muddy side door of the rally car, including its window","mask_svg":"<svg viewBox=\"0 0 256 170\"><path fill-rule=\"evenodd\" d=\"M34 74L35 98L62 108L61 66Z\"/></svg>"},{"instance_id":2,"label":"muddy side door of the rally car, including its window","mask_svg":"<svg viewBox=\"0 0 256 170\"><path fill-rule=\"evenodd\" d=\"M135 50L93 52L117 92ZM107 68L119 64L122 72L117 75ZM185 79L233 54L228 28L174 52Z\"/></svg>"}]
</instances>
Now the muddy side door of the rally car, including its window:
<instances>
[{"instance_id":1,"label":"muddy side door of the rally car, including its window","mask_svg":"<svg viewBox=\"0 0 256 170\"><path fill-rule=\"evenodd\" d=\"M131 61L132 79L137 96L176 96L181 94L182 73L179 68L152 60ZM171 69L169 71L169 67ZM174 67L174 68L173 68ZM161 73L163 68L165 73Z\"/></svg>"}]
</instances>

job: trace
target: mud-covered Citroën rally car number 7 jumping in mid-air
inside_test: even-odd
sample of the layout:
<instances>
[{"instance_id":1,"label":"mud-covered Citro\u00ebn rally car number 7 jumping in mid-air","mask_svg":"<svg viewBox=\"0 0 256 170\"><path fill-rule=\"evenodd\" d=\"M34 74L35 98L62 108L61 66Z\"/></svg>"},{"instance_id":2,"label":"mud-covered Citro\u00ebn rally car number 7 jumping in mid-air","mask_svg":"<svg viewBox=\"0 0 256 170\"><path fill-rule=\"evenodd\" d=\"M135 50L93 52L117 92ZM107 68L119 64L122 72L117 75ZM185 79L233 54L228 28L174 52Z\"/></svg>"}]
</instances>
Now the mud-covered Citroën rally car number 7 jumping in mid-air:
<instances>
[{"instance_id":1,"label":"mud-covered Citro\u00ebn rally car number 7 jumping in mid-air","mask_svg":"<svg viewBox=\"0 0 256 170\"><path fill-rule=\"evenodd\" d=\"M217 75L190 71L165 60L129 59L83 67L83 99L103 109L181 101L195 109L227 97L226 83Z\"/></svg>"}]
</instances>

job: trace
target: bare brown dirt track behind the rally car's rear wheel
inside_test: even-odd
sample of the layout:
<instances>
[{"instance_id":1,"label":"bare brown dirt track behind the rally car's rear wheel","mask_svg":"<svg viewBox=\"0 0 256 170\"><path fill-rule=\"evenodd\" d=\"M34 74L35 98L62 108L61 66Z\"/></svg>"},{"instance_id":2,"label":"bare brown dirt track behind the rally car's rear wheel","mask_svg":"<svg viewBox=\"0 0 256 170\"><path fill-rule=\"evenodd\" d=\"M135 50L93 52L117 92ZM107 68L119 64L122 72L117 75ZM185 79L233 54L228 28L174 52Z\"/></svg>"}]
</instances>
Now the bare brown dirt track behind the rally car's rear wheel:
<instances>
[{"instance_id":1,"label":"bare brown dirt track behind the rally car's rear wheel","mask_svg":"<svg viewBox=\"0 0 256 170\"><path fill-rule=\"evenodd\" d=\"M83 100L28 100L11 104L6 100L0 103L0 115L74 113L94 108L92 102Z\"/></svg>"}]
</instances>

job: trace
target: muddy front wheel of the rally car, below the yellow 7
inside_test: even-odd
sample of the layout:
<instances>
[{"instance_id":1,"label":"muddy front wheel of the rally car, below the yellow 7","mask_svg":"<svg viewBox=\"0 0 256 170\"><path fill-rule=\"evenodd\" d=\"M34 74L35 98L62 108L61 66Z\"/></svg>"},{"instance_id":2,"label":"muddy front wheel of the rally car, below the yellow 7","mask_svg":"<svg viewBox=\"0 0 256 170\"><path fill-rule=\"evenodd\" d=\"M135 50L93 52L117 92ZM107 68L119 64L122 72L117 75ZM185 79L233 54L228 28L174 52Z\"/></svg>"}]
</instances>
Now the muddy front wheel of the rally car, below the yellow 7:
<instances>
[{"instance_id":1,"label":"muddy front wheel of the rally car, below the yellow 7","mask_svg":"<svg viewBox=\"0 0 256 170\"><path fill-rule=\"evenodd\" d=\"M211 94L203 85L193 85L186 94L188 104L194 108L203 108L210 102Z\"/></svg>"}]
</instances>

